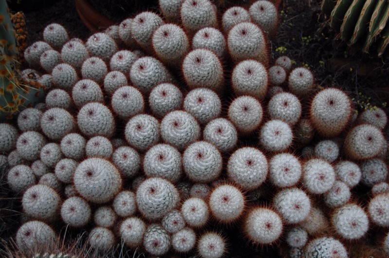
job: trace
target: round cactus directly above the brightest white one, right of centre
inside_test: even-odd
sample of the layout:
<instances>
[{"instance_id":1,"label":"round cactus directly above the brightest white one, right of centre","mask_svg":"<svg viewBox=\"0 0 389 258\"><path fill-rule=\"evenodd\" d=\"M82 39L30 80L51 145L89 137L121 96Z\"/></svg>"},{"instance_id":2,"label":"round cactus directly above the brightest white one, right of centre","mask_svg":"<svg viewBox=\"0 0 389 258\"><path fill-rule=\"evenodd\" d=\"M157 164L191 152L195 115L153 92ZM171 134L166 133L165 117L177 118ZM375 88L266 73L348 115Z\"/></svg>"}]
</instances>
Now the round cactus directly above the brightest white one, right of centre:
<instances>
[{"instance_id":1,"label":"round cactus directly above the brightest white one, right of centre","mask_svg":"<svg viewBox=\"0 0 389 258\"><path fill-rule=\"evenodd\" d=\"M301 103L295 95L282 92L269 100L267 111L271 119L279 119L293 126L301 117Z\"/></svg>"}]
</instances>

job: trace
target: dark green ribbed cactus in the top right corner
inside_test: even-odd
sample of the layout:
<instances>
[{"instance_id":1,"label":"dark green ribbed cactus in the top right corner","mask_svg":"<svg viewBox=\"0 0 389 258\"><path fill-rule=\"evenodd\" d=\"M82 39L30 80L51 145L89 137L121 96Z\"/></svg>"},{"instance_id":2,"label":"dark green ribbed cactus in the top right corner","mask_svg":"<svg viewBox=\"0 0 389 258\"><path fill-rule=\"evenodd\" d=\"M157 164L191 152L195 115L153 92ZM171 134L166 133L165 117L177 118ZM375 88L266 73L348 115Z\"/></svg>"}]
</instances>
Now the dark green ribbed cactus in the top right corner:
<instances>
[{"instance_id":1,"label":"dark green ribbed cactus in the top right corner","mask_svg":"<svg viewBox=\"0 0 389 258\"><path fill-rule=\"evenodd\" d=\"M386 57L389 45L389 4L381 0L323 0L321 10L331 28L349 46Z\"/></svg>"}]
</instances>

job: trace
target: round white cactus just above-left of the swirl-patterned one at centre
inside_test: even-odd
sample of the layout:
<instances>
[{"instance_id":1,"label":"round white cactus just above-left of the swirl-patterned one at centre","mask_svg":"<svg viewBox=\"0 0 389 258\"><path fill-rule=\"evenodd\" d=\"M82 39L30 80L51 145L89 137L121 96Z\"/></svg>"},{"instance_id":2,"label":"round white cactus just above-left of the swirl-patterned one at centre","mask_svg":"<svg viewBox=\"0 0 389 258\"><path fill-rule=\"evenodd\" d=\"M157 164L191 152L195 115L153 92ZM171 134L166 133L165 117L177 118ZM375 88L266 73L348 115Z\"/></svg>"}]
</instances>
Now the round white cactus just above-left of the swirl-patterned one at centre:
<instances>
[{"instance_id":1,"label":"round white cactus just above-left of the swirl-patterned one at centre","mask_svg":"<svg viewBox=\"0 0 389 258\"><path fill-rule=\"evenodd\" d=\"M161 83L155 86L149 95L149 105L153 114L163 117L182 106L182 92L172 83Z\"/></svg>"}]
</instances>

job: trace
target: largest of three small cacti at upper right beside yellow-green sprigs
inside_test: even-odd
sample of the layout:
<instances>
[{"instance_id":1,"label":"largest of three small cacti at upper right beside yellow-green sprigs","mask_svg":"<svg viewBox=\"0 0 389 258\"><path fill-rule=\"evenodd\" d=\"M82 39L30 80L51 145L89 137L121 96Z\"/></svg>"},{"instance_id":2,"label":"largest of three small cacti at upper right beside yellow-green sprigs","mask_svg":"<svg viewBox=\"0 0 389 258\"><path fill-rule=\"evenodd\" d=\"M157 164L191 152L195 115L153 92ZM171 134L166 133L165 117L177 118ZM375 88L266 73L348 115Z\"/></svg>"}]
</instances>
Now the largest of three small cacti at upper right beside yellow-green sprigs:
<instances>
[{"instance_id":1,"label":"largest of three small cacti at upper right beside yellow-green sprigs","mask_svg":"<svg viewBox=\"0 0 389 258\"><path fill-rule=\"evenodd\" d=\"M314 90L314 82L315 80L312 72L306 67L296 67L288 76L288 87L290 92L301 98L307 98Z\"/></svg>"}]
</instances>

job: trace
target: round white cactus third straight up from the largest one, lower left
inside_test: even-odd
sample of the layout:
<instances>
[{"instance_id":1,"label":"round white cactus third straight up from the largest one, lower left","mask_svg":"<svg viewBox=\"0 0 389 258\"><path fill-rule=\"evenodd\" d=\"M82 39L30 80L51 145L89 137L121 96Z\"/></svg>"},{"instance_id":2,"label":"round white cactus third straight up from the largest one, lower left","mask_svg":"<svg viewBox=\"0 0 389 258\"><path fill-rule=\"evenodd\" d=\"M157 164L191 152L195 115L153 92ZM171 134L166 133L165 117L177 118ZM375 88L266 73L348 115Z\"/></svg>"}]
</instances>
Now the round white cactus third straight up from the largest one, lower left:
<instances>
[{"instance_id":1,"label":"round white cactus third straight up from the largest one, lower left","mask_svg":"<svg viewBox=\"0 0 389 258\"><path fill-rule=\"evenodd\" d=\"M81 108L88 102L103 102L103 92L95 81L83 79L77 81L71 90L71 97L74 104Z\"/></svg>"}]
</instances>

